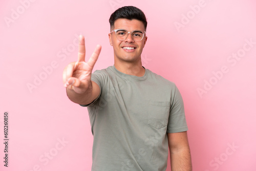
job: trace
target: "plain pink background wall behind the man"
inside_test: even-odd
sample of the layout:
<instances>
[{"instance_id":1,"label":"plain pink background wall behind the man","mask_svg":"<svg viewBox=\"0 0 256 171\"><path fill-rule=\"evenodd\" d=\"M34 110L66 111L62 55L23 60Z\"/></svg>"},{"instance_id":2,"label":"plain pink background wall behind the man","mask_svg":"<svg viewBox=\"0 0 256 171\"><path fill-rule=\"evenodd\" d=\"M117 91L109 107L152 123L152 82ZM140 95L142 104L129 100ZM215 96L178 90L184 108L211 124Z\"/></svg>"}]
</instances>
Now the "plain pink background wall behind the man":
<instances>
[{"instance_id":1,"label":"plain pink background wall behind the man","mask_svg":"<svg viewBox=\"0 0 256 171\"><path fill-rule=\"evenodd\" d=\"M87 57L102 45L94 70L113 65L108 19L126 5L147 17L143 66L175 82L183 96L194 170L255 170L254 1L28 2L0 5L0 170L91 170L87 108L68 99L62 71L77 60L80 33ZM249 40L254 44L245 45ZM235 53L242 57L233 58ZM8 168L2 142L6 111Z\"/></svg>"}]
</instances>

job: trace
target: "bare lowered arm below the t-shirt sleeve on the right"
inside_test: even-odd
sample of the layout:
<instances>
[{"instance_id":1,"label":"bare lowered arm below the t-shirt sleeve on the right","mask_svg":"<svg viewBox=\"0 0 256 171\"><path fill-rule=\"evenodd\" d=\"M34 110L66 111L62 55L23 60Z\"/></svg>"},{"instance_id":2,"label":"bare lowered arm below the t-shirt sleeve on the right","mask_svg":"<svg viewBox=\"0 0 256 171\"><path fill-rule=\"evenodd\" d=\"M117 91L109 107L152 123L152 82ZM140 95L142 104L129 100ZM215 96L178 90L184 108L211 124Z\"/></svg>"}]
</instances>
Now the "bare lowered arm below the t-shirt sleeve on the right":
<instances>
[{"instance_id":1,"label":"bare lowered arm below the t-shirt sleeve on the right","mask_svg":"<svg viewBox=\"0 0 256 171\"><path fill-rule=\"evenodd\" d=\"M172 171L191 171L192 163L187 132L167 133Z\"/></svg>"}]
</instances>

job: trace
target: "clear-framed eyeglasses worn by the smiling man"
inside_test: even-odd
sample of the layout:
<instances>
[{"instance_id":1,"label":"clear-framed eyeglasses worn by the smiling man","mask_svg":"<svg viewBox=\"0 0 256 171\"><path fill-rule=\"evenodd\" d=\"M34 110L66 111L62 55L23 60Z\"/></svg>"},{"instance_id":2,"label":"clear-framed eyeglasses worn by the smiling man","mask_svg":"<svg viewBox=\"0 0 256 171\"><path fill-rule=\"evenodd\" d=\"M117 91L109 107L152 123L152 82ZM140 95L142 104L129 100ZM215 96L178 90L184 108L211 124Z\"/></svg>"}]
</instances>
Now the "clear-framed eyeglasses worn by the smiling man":
<instances>
[{"instance_id":1,"label":"clear-framed eyeglasses worn by the smiling man","mask_svg":"<svg viewBox=\"0 0 256 171\"><path fill-rule=\"evenodd\" d=\"M118 40L121 40L121 41L125 40L128 37L129 33L132 35L132 38L135 41L142 40L143 37L144 37L144 34L146 34L145 31L142 32L140 30L134 30L134 31L130 32L130 31L127 31L127 30L124 30L124 29L116 29L116 30L113 30L113 31L116 32L116 38ZM110 32L110 33L112 33L112 32Z\"/></svg>"}]
</instances>

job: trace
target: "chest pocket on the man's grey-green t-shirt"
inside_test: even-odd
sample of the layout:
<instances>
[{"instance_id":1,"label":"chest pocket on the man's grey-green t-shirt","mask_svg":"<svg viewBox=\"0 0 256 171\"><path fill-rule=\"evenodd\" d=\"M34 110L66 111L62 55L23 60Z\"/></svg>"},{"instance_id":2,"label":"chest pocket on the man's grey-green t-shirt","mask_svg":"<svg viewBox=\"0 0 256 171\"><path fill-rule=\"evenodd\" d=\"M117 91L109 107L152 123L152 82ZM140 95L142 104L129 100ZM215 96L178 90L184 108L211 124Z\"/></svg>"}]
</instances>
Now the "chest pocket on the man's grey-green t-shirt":
<instances>
[{"instance_id":1,"label":"chest pocket on the man's grey-green t-shirt","mask_svg":"<svg viewBox=\"0 0 256 171\"><path fill-rule=\"evenodd\" d=\"M170 102L149 101L147 108L147 124L161 129L167 126L169 118Z\"/></svg>"}]
</instances>

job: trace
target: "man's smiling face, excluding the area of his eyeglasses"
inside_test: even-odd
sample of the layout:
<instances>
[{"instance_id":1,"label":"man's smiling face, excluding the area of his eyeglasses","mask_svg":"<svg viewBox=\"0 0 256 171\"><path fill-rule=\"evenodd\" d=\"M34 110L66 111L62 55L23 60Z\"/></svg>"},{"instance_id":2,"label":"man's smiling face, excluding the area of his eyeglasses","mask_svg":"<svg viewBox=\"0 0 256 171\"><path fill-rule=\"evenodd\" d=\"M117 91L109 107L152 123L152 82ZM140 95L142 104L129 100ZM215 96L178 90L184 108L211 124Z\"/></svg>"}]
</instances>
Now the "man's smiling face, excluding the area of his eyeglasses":
<instances>
[{"instance_id":1,"label":"man's smiling face, excluding the area of his eyeglasses","mask_svg":"<svg viewBox=\"0 0 256 171\"><path fill-rule=\"evenodd\" d=\"M145 31L144 25L141 21L137 19L129 20L125 18L119 18L115 20L114 28L115 29L124 29L129 32L134 30ZM111 30L111 31L112 31ZM147 37L143 37L142 40L134 40L132 35L129 34L125 40L117 39L115 32L109 34L110 45L114 49L114 58L115 61L126 61L126 62L136 62L141 60L141 53L146 44ZM124 47L132 47L134 49L125 49Z\"/></svg>"}]
</instances>

